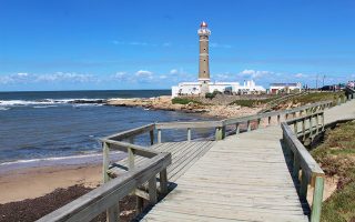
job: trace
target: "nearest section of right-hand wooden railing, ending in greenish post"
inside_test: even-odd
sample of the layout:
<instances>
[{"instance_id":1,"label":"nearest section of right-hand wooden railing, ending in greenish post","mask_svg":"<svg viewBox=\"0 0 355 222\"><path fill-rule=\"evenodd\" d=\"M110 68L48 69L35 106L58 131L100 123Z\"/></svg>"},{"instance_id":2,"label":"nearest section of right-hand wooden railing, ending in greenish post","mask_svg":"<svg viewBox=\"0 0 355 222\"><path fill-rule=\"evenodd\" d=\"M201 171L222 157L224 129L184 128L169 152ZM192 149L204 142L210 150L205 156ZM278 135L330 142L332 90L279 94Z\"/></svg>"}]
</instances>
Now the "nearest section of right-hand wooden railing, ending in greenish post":
<instances>
[{"instance_id":1,"label":"nearest section of right-hand wooden railing, ending in greenish post","mask_svg":"<svg viewBox=\"0 0 355 222\"><path fill-rule=\"evenodd\" d=\"M287 122L281 123L281 127L283 130L283 141L293 164L293 175L297 182L300 182L301 171L300 196L306 200L308 184L314 186L311 222L320 222L325 174L307 149L297 139L297 135L292 131Z\"/></svg>"}]
</instances>

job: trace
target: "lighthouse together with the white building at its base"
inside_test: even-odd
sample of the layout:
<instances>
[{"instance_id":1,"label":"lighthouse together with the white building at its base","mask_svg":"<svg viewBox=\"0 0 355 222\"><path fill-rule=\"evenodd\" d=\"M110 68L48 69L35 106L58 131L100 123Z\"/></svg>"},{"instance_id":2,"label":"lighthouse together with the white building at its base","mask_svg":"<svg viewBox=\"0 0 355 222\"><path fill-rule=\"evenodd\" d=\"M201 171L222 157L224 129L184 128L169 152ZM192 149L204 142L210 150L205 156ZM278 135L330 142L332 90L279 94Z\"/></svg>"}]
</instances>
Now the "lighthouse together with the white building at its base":
<instances>
[{"instance_id":1,"label":"lighthouse together with the white building at its base","mask_svg":"<svg viewBox=\"0 0 355 222\"><path fill-rule=\"evenodd\" d=\"M172 98L179 95L205 95L213 91L230 91L232 93L265 91L263 87L255 85L253 80L247 81L247 83L244 82L244 85L240 85L239 82L211 82L209 64L209 37L211 31L207 29L206 22L201 23L197 33L200 37L199 82L181 82L172 87Z\"/></svg>"}]
</instances>

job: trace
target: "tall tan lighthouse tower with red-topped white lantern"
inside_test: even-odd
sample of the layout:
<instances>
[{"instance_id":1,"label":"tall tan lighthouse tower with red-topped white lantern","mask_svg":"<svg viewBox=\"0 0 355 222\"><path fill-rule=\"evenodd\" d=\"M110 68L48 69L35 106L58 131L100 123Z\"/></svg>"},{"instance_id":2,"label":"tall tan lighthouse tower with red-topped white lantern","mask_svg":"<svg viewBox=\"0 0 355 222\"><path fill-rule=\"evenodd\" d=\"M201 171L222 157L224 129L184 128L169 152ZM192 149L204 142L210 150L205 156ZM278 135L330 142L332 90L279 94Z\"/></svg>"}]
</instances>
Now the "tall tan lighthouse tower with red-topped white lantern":
<instances>
[{"instance_id":1,"label":"tall tan lighthouse tower with red-topped white lantern","mask_svg":"<svg viewBox=\"0 0 355 222\"><path fill-rule=\"evenodd\" d=\"M201 94L205 94L210 91L209 37L211 34L206 22L203 21L201 23L197 33L200 37L199 82L201 84Z\"/></svg>"}]
</instances>

